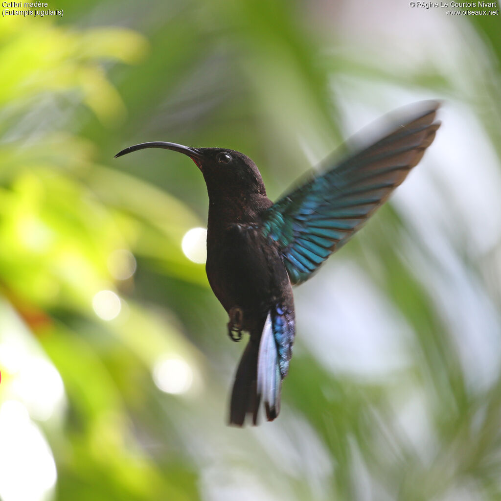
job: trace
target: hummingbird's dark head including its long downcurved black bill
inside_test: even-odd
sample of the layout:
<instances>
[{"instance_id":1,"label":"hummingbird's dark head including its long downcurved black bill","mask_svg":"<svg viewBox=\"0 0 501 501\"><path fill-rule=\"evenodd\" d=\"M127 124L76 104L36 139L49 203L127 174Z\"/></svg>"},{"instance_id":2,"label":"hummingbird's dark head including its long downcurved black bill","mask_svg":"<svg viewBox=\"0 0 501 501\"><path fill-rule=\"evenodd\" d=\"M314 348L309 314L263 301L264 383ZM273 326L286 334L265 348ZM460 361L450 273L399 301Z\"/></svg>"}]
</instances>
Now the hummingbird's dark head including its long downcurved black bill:
<instances>
[{"instance_id":1,"label":"hummingbird's dark head including its long downcurved black bill","mask_svg":"<svg viewBox=\"0 0 501 501\"><path fill-rule=\"evenodd\" d=\"M214 191L234 195L266 195L258 167L248 156L238 151L226 148L191 148L182 144L154 141L129 146L117 153L115 158L144 148L164 148L189 156L201 170L209 196Z\"/></svg>"}]
</instances>

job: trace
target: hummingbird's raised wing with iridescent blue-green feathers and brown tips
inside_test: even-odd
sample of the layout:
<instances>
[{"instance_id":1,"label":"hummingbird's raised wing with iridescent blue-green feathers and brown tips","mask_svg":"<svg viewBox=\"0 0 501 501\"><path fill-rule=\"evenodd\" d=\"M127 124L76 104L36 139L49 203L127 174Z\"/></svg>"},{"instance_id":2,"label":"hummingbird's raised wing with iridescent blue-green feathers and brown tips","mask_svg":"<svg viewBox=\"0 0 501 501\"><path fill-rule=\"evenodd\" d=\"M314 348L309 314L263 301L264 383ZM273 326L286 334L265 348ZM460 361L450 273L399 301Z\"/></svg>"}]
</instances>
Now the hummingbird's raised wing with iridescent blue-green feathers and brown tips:
<instances>
[{"instance_id":1,"label":"hummingbird's raised wing with iridescent blue-green feathers and brown tips","mask_svg":"<svg viewBox=\"0 0 501 501\"><path fill-rule=\"evenodd\" d=\"M281 249L291 283L311 277L402 183L433 142L439 104L280 199L263 214L263 232Z\"/></svg>"}]
</instances>

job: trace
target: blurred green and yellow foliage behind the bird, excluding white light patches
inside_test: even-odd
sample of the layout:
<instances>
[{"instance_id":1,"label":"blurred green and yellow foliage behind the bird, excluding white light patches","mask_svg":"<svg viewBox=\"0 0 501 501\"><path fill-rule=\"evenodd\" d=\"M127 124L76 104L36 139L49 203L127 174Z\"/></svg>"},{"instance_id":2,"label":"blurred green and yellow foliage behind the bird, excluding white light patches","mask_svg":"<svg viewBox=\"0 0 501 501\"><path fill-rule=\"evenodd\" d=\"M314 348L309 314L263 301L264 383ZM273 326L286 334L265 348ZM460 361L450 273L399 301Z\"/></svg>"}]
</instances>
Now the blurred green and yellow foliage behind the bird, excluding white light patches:
<instances>
[{"instance_id":1,"label":"blurred green and yellow foliage behind the bird, excluding white light patches","mask_svg":"<svg viewBox=\"0 0 501 501\"><path fill-rule=\"evenodd\" d=\"M64 383L61 409L32 415L55 458L54 498L243 498L238 485L248 499L445 499L464 486L475 492L465 499L499 498L501 375L468 386L453 326L406 255L410 245L434 263L433 249L397 211L383 209L339 259L364 270L405 320L408 366L374 380L330 370L300 332L280 418L234 430L224 421L241 347L227 342L203 266L181 250L185 232L204 225L201 176L165 152L111 160L147 140L228 145L252 153L277 197L312 163L305 144L320 159L344 137L332 82L346 77L468 103L501 154L494 20L473 18L481 38L465 28L486 61L468 81L484 92L466 95L431 62L398 73L362 42L341 47L301 3L58 7L62 19L0 23L0 350L50 359ZM497 318L486 264L453 243ZM113 276L117 249L135 256L133 277ZM120 297L111 321L93 309L104 290ZM193 372L184 395L153 382L170 356ZM6 358L0 403L23 400L21 369L2 367ZM413 395L431 457L398 420Z\"/></svg>"}]
</instances>

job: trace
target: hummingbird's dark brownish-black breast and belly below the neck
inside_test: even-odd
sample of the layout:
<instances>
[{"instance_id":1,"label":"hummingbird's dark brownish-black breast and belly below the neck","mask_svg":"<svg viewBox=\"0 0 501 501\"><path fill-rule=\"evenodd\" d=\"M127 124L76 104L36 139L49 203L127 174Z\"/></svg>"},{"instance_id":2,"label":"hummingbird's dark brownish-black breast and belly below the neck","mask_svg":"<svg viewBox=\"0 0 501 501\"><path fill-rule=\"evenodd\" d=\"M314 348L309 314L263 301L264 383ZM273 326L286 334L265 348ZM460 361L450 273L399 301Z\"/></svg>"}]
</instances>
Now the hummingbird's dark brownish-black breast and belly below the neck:
<instances>
[{"instance_id":1,"label":"hummingbird's dark brownish-black breast and belly below the neck","mask_svg":"<svg viewBox=\"0 0 501 501\"><path fill-rule=\"evenodd\" d=\"M271 305L292 299L292 289L278 248L256 224L208 228L207 278L224 309L243 311L243 328L250 319L266 318Z\"/></svg>"}]
</instances>

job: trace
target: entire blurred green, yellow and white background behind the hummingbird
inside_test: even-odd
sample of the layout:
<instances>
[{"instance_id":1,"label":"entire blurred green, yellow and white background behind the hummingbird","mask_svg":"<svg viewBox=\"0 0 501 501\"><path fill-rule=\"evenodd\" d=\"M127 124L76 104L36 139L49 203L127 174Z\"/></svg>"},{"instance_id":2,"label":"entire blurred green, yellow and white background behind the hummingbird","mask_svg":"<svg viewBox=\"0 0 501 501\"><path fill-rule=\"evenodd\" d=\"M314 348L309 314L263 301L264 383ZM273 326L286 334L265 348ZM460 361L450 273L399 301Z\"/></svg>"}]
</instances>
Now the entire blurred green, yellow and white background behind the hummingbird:
<instances>
[{"instance_id":1,"label":"entire blurred green, yellow and white background behind the hummingbird","mask_svg":"<svg viewBox=\"0 0 501 501\"><path fill-rule=\"evenodd\" d=\"M0 21L2 501L501 499L499 15L49 8ZM296 289L279 419L226 426L243 343L194 262L203 179L175 153L113 155L225 146L276 199L429 98L443 126L421 164Z\"/></svg>"}]
</instances>

